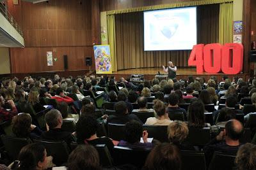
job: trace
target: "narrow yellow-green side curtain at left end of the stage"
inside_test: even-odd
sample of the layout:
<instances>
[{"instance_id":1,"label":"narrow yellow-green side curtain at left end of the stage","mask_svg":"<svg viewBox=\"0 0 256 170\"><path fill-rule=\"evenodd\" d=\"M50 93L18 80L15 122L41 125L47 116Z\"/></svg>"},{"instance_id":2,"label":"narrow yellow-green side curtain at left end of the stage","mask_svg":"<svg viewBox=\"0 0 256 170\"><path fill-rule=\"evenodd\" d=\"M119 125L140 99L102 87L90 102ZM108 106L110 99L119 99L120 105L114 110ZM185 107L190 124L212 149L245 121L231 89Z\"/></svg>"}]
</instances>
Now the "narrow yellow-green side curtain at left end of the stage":
<instances>
[{"instance_id":1,"label":"narrow yellow-green side curtain at left end of the stage","mask_svg":"<svg viewBox=\"0 0 256 170\"><path fill-rule=\"evenodd\" d=\"M108 23L108 42L111 52L111 64L112 71L117 71L116 69L116 28L115 28L115 15L107 15Z\"/></svg>"}]
</instances>

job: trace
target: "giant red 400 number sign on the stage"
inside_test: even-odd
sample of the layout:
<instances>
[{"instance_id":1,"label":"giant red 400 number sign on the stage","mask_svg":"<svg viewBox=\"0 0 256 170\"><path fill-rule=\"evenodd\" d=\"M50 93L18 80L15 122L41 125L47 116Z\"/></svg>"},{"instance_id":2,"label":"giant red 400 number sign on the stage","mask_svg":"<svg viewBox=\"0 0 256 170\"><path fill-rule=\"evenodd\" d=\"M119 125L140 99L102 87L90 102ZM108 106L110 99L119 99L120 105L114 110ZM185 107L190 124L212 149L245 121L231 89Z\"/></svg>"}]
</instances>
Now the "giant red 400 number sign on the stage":
<instances>
[{"instance_id":1,"label":"giant red 400 number sign on the stage","mask_svg":"<svg viewBox=\"0 0 256 170\"><path fill-rule=\"evenodd\" d=\"M243 51L239 43L194 45L188 66L196 66L197 73L238 74L243 69Z\"/></svg>"}]
</instances>

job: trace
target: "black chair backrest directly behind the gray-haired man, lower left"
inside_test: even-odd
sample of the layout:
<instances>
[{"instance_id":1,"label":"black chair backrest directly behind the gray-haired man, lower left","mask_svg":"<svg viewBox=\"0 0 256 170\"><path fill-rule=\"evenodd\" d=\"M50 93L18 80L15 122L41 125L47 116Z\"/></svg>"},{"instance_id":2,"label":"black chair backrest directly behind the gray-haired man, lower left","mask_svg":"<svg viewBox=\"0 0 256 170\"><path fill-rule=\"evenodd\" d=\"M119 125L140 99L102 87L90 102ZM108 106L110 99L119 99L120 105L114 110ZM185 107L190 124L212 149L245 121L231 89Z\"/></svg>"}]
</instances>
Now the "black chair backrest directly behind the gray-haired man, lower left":
<instances>
[{"instance_id":1,"label":"black chair backrest directly behind the gray-haired man, lower left","mask_svg":"<svg viewBox=\"0 0 256 170\"><path fill-rule=\"evenodd\" d=\"M35 139L34 142L45 146L47 154L53 157L52 162L57 166L64 164L68 160L68 149L65 141L43 141Z\"/></svg>"}]
</instances>

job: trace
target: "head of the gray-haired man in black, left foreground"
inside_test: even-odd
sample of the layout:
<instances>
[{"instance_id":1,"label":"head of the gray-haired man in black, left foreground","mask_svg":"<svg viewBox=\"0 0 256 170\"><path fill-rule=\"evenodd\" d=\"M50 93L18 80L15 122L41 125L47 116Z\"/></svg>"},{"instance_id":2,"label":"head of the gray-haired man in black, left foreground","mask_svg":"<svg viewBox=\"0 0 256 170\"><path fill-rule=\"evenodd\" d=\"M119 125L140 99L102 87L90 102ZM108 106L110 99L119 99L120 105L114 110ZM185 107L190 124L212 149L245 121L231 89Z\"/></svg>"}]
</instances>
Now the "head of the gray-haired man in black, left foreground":
<instances>
[{"instance_id":1,"label":"head of the gray-haired man in black, left foreground","mask_svg":"<svg viewBox=\"0 0 256 170\"><path fill-rule=\"evenodd\" d=\"M61 128L62 116L60 111L52 109L45 114L44 118L49 129Z\"/></svg>"}]
</instances>

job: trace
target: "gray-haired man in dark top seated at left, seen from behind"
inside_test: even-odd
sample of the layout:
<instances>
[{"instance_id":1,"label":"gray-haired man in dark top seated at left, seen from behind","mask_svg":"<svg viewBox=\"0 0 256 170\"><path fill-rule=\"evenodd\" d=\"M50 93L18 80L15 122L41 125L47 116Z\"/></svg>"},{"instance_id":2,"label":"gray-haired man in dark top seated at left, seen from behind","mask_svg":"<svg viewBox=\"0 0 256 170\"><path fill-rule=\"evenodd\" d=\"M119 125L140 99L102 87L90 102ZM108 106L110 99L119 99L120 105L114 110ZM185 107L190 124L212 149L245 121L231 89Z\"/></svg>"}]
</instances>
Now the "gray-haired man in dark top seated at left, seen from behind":
<instances>
[{"instance_id":1,"label":"gray-haired man in dark top seated at left, seen from behind","mask_svg":"<svg viewBox=\"0 0 256 170\"><path fill-rule=\"evenodd\" d=\"M60 111L52 109L45 114L45 122L47 131L41 134L42 139L51 141L65 141L68 145L72 141L76 141L72 133L61 130L63 119Z\"/></svg>"}]
</instances>

